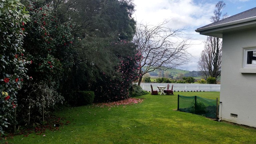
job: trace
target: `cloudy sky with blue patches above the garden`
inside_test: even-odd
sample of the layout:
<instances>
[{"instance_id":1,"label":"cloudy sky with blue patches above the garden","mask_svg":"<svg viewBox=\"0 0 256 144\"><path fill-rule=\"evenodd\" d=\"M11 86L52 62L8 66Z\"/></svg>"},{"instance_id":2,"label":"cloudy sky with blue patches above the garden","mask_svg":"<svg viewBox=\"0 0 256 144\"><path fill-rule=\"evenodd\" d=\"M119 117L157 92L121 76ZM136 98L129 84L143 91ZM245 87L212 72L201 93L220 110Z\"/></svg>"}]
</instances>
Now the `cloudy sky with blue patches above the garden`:
<instances>
[{"instance_id":1,"label":"cloudy sky with blue patches above the garden","mask_svg":"<svg viewBox=\"0 0 256 144\"><path fill-rule=\"evenodd\" d=\"M256 0L223 0L226 3L222 14L228 16L256 7ZM185 29L185 39L191 39L187 51L193 56L186 65L178 69L198 71L197 62L207 36L200 35L195 29L210 24L215 5L219 0L133 0L135 12L132 15L138 23L156 25L164 20L172 29Z\"/></svg>"}]
</instances>

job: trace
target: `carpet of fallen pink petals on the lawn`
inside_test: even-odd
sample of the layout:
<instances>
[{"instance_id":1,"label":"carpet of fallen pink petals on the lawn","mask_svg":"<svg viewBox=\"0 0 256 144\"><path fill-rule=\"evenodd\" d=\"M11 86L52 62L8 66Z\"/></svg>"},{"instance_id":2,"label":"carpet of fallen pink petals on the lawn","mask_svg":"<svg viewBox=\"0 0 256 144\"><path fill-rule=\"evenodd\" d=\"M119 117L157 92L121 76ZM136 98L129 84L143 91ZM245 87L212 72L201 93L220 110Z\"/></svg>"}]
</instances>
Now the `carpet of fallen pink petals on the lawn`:
<instances>
[{"instance_id":1,"label":"carpet of fallen pink petals on the lawn","mask_svg":"<svg viewBox=\"0 0 256 144\"><path fill-rule=\"evenodd\" d=\"M138 98L128 98L125 100L121 101L116 101L116 102L108 102L108 103L97 103L93 104L96 107L114 107L114 106L119 106L119 105L131 105L131 104L137 104L137 103L142 103L143 99L138 99Z\"/></svg>"}]
</instances>

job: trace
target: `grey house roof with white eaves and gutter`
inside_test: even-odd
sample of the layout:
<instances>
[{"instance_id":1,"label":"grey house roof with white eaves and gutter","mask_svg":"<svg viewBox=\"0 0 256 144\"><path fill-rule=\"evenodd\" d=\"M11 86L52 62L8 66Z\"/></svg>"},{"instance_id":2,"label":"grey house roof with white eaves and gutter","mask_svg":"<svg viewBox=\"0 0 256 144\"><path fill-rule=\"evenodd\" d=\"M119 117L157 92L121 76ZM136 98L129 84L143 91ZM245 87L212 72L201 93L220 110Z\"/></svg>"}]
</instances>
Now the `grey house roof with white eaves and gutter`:
<instances>
[{"instance_id":1,"label":"grey house roof with white eaves and gutter","mask_svg":"<svg viewBox=\"0 0 256 144\"><path fill-rule=\"evenodd\" d=\"M220 37L222 34L242 29L256 28L256 7L196 29L200 34Z\"/></svg>"}]
</instances>

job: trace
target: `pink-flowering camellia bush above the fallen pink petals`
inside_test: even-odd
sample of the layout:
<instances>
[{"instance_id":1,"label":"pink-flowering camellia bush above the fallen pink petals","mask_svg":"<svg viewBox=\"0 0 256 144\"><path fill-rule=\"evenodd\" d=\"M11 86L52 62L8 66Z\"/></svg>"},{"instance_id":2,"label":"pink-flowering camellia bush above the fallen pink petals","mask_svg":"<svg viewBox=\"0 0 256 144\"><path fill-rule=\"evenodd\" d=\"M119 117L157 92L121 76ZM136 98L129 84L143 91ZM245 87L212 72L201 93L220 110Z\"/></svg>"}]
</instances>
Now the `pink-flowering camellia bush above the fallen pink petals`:
<instances>
[{"instance_id":1,"label":"pink-flowering camellia bush above the fallen pink petals","mask_svg":"<svg viewBox=\"0 0 256 144\"><path fill-rule=\"evenodd\" d=\"M132 48L130 47L130 49ZM129 89L132 87L133 81L139 78L140 65L138 61L141 59L141 54L134 51L133 56L119 57L119 59L115 75L104 77L105 73L102 73L102 80L98 82L98 87L95 90L94 100L96 102L112 102L129 98Z\"/></svg>"}]
</instances>

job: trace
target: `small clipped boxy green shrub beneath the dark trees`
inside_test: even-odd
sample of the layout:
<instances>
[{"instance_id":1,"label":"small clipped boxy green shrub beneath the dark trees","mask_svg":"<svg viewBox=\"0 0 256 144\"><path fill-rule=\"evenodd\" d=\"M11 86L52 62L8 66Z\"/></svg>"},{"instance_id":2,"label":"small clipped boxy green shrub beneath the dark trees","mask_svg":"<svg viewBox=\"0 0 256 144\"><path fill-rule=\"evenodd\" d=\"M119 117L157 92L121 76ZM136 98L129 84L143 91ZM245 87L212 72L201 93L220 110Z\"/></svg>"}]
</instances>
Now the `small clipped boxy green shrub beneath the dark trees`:
<instances>
[{"instance_id":1,"label":"small clipped boxy green shrub beneath the dark trees","mask_svg":"<svg viewBox=\"0 0 256 144\"><path fill-rule=\"evenodd\" d=\"M78 91L77 92L77 103L79 105L91 105L94 100L94 92L93 91Z\"/></svg>"}]
</instances>

